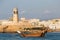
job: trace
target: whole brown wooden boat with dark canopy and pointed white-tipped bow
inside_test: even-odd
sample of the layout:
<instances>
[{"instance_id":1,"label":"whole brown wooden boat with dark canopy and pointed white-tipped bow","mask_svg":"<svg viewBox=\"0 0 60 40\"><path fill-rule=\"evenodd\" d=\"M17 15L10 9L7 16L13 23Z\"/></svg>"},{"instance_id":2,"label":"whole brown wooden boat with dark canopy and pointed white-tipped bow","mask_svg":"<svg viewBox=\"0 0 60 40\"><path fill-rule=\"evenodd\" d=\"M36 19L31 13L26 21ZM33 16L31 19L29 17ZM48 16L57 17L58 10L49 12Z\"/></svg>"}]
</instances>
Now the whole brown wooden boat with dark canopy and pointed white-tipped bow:
<instances>
[{"instance_id":1,"label":"whole brown wooden boat with dark canopy and pointed white-tipped bow","mask_svg":"<svg viewBox=\"0 0 60 40\"><path fill-rule=\"evenodd\" d=\"M17 31L23 37L44 37L47 33L47 30L41 28L25 28L29 29L26 31Z\"/></svg>"}]
</instances>

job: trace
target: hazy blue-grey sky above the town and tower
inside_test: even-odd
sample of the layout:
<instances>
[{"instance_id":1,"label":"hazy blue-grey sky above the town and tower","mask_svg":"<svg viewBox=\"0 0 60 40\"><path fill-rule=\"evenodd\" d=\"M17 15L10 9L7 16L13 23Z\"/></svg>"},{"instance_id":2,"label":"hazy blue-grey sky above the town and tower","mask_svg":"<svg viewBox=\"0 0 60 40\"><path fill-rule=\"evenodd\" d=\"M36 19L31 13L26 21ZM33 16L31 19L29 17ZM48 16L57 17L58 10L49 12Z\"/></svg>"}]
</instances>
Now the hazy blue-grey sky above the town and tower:
<instances>
[{"instance_id":1,"label":"hazy blue-grey sky above the town and tower","mask_svg":"<svg viewBox=\"0 0 60 40\"><path fill-rule=\"evenodd\" d=\"M15 7L19 10L19 18L60 18L60 0L0 0L0 19L11 17Z\"/></svg>"}]
</instances>

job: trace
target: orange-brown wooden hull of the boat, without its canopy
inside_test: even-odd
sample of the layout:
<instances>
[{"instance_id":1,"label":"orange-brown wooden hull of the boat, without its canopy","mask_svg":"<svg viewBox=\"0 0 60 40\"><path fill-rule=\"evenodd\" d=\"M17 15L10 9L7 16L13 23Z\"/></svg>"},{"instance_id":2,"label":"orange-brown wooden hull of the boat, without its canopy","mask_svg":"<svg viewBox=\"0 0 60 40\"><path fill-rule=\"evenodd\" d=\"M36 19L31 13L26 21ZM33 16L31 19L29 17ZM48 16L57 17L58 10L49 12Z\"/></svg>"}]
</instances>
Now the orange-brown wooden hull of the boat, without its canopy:
<instances>
[{"instance_id":1,"label":"orange-brown wooden hull of the boat, without its canopy","mask_svg":"<svg viewBox=\"0 0 60 40\"><path fill-rule=\"evenodd\" d=\"M28 33L28 34L26 34L26 33L21 33L20 35L22 35L23 37L43 37L43 36L45 36L45 32L42 32L42 31L40 31L40 32L31 32L31 33Z\"/></svg>"}]
</instances>

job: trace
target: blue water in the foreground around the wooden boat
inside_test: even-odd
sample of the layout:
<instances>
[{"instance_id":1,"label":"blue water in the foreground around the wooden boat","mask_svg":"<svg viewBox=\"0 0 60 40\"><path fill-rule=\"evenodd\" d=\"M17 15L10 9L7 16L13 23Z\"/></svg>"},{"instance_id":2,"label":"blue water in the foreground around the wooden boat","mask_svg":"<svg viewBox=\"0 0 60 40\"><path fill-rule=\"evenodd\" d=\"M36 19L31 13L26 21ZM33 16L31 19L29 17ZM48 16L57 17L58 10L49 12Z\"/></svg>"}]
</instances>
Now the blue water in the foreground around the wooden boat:
<instances>
[{"instance_id":1,"label":"blue water in the foreground around the wooden boat","mask_svg":"<svg viewBox=\"0 0 60 40\"><path fill-rule=\"evenodd\" d=\"M60 40L60 33L47 33L45 37L23 38L16 33L0 33L0 40Z\"/></svg>"}]
</instances>

